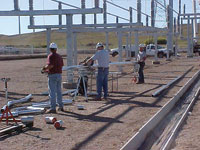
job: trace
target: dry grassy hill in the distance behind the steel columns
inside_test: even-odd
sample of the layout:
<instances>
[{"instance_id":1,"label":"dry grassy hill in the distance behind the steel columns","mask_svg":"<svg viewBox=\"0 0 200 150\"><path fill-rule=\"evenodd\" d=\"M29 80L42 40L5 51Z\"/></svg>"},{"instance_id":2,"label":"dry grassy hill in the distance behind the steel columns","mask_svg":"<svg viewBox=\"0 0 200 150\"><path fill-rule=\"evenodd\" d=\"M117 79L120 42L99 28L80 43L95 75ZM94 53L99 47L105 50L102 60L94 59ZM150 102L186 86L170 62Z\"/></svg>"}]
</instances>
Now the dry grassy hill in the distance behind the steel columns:
<instances>
[{"instance_id":1,"label":"dry grassy hill in the distance behind the steel columns","mask_svg":"<svg viewBox=\"0 0 200 150\"><path fill-rule=\"evenodd\" d=\"M186 26L183 27L184 36L186 36ZM134 35L134 34L132 34ZM140 43L144 43L152 36L140 37ZM165 37L164 37L165 38ZM66 33L59 31L51 32L51 41L58 44L59 48L66 47ZM77 34L77 47L78 49L94 49L97 42L105 43L105 33L78 33ZM178 40L181 46L186 45L186 41ZM134 43L134 36L132 37ZM126 44L126 37L123 36L123 44ZM16 47L30 47L45 48L46 47L46 32L26 33L22 35L1 35L0 45L9 45ZM117 34L114 32L109 33L109 47L114 48L118 46Z\"/></svg>"}]
</instances>

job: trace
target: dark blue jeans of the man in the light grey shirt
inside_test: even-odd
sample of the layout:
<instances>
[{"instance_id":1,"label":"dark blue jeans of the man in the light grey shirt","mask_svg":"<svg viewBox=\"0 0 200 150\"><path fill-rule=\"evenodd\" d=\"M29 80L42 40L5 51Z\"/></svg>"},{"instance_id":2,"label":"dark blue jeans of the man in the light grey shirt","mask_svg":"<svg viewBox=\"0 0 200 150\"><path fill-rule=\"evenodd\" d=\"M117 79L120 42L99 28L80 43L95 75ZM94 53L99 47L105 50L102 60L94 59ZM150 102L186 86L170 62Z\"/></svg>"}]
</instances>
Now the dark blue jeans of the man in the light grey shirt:
<instances>
[{"instance_id":1,"label":"dark blue jeans of the man in the light grey shirt","mask_svg":"<svg viewBox=\"0 0 200 150\"><path fill-rule=\"evenodd\" d=\"M101 98L101 92L103 87L104 98L108 96L108 68L98 68L97 74L97 93L98 98Z\"/></svg>"}]
</instances>

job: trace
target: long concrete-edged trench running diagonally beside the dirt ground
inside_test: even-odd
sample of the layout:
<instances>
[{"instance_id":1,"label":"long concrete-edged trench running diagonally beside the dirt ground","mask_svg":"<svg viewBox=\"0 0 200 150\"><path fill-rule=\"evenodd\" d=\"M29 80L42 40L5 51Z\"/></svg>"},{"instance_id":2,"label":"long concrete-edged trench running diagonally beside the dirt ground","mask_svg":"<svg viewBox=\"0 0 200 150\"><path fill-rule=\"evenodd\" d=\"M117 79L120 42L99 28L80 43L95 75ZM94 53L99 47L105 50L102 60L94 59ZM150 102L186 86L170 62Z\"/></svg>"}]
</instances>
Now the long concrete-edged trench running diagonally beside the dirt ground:
<instances>
[{"instance_id":1,"label":"long concrete-edged trench running diagonally beside the dirt ground","mask_svg":"<svg viewBox=\"0 0 200 150\"><path fill-rule=\"evenodd\" d=\"M183 119L186 118L185 116L187 112L194 104L194 100L199 95L200 81L196 82L199 79L199 76L200 76L200 71L198 71L178 91L178 93L167 104L165 104L162 107L160 111L158 111L142 128L140 128L139 131L121 148L121 150L169 149L170 144L172 143L173 139L176 136L178 127L180 127L180 124L183 123ZM194 83L196 84L194 85ZM186 92L187 92L186 95L188 96L185 96L187 98L183 100L183 95ZM180 102L182 102L181 103L182 105L181 106L177 105L180 104ZM189 106L186 107L184 106L184 104L188 104ZM169 124L170 120L174 122ZM166 126L166 124L169 124L169 126ZM163 132L159 133L159 131ZM155 137L155 135L158 136Z\"/></svg>"}]
</instances>

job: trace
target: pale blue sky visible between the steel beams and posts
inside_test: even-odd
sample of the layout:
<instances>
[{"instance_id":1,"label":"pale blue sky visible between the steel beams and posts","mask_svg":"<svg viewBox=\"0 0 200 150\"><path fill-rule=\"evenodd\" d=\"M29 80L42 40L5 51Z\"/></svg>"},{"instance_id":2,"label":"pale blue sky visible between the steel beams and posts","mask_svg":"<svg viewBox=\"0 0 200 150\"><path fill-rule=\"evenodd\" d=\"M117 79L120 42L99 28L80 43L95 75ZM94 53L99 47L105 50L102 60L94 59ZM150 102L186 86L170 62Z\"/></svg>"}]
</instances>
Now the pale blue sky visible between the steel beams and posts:
<instances>
[{"instance_id":1,"label":"pale blue sky visible between the steel beams and posts","mask_svg":"<svg viewBox=\"0 0 200 150\"><path fill-rule=\"evenodd\" d=\"M66 3L69 3L71 5L75 5L80 7L80 1L81 0L60 0ZM124 8L129 8L130 6L133 8L136 8L137 0L109 0L113 3L120 5ZM142 12L147 13L150 15L150 1L151 0L142 0ZM162 2L163 0L158 0ZM29 0L19 0L19 7L21 10L28 10L29 9ZM167 0L168 3L168 0ZM192 12L192 0L182 0L182 5L186 4L186 12ZM0 11L5 10L13 10L13 0L1 0L0 1ZM174 0L174 9L178 11L178 0ZM200 12L200 7L197 5L197 11ZM34 9L35 10L46 10L46 9L57 9L57 3L52 2L51 0L34 0ZM86 0L86 7L92 8L94 7L94 0ZM102 0L100 0L100 7L102 7ZM63 6L65 9L72 9L68 6ZM164 27L166 24L162 21L164 20L165 14L164 11L159 10L159 13L157 15L157 21L156 25L159 27ZM118 9L116 7L113 7L112 5L108 4L108 12L112 14L119 15L121 17L129 19L129 13ZM134 12L133 20L136 21L136 12ZM87 15L87 23L92 23L93 21L93 15ZM98 23L102 23L102 15L98 15ZM145 20L145 17L142 18ZM76 15L73 18L74 23L81 23L81 16ZM65 17L63 17L63 23L65 22ZM112 16L108 16L108 22L115 22L115 18ZM120 22L126 22L124 20L120 19ZM149 22L150 23L150 22ZM58 24L58 17L57 16L40 16L35 18L35 24L37 25L47 25L47 24ZM21 17L21 32L22 33L29 33L32 32L32 30L28 29L27 26L29 25L29 17ZM36 30L39 31L39 30ZM18 27L18 17L0 17L0 34L5 35L14 35L18 34L19 27Z\"/></svg>"}]
</instances>

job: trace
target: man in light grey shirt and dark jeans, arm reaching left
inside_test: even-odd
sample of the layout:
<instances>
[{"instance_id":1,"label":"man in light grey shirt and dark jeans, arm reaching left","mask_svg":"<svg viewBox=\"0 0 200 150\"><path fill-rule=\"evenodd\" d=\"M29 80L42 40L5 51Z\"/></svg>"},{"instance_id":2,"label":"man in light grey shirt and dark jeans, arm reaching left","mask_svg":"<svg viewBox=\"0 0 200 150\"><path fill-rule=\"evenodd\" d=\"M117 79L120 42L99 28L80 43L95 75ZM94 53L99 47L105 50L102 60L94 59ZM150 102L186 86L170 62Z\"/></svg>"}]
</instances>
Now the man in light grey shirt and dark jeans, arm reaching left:
<instances>
[{"instance_id":1,"label":"man in light grey shirt and dark jeans, arm reaching left","mask_svg":"<svg viewBox=\"0 0 200 150\"><path fill-rule=\"evenodd\" d=\"M91 63L97 60L98 62L98 74L97 74L97 97L96 100L101 100L102 88L104 91L104 99L108 97L108 74L109 74L109 52L104 49L102 43L97 43L97 52L87 61Z\"/></svg>"}]
</instances>

